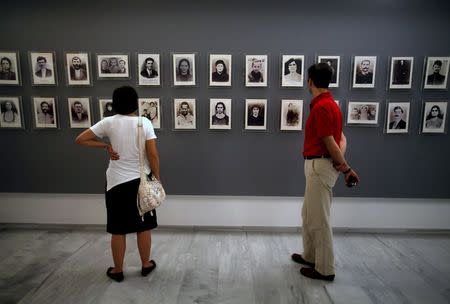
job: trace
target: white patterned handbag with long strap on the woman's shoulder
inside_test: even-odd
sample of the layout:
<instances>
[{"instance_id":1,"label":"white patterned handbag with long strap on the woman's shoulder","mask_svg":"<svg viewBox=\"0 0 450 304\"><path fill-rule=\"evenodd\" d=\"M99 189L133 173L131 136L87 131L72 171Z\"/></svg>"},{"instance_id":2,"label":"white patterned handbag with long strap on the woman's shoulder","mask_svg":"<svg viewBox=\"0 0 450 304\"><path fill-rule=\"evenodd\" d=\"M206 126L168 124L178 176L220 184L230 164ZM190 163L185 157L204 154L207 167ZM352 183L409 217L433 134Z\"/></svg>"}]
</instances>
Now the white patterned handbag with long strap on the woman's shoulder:
<instances>
[{"instance_id":1,"label":"white patterned handbag with long strap on the woman's shoulder","mask_svg":"<svg viewBox=\"0 0 450 304\"><path fill-rule=\"evenodd\" d=\"M152 177L149 179L144 173L144 151L145 146L142 139L142 117L139 117L138 122L138 142L139 142L139 165L141 172L141 182L138 188L137 195L137 207L139 215L144 220L144 214L159 207L166 198L166 192L164 191L161 183Z\"/></svg>"}]
</instances>

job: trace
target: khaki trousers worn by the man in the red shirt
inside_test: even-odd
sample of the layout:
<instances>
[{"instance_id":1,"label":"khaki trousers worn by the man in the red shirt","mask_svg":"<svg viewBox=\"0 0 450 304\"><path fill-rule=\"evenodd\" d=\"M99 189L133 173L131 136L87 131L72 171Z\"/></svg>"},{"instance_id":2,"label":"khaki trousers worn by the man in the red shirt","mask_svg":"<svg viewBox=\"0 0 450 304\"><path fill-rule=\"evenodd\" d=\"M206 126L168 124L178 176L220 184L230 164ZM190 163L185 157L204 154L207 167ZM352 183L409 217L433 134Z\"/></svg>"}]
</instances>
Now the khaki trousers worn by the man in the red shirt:
<instances>
[{"instance_id":1,"label":"khaki trousers worn by the man in the red shirt","mask_svg":"<svg viewBox=\"0 0 450 304\"><path fill-rule=\"evenodd\" d=\"M303 258L323 275L335 274L330 207L339 172L331 159L305 160L305 199L302 208Z\"/></svg>"}]
</instances>

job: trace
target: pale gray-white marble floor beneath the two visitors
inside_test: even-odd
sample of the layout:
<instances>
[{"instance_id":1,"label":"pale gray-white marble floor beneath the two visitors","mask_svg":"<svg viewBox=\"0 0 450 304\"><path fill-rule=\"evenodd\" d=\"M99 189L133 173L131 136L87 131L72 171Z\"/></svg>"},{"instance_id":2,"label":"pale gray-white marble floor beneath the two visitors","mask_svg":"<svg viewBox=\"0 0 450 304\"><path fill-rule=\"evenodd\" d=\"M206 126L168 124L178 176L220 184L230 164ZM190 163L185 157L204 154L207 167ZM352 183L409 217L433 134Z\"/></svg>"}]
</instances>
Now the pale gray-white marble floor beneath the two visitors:
<instances>
[{"instance_id":1,"label":"pale gray-white marble floor beneath the two visitors","mask_svg":"<svg viewBox=\"0 0 450 304\"><path fill-rule=\"evenodd\" d=\"M297 233L157 230L148 277L127 239L125 281L105 275L98 230L0 227L0 303L450 303L450 235L336 233L336 280L290 260Z\"/></svg>"}]
</instances>

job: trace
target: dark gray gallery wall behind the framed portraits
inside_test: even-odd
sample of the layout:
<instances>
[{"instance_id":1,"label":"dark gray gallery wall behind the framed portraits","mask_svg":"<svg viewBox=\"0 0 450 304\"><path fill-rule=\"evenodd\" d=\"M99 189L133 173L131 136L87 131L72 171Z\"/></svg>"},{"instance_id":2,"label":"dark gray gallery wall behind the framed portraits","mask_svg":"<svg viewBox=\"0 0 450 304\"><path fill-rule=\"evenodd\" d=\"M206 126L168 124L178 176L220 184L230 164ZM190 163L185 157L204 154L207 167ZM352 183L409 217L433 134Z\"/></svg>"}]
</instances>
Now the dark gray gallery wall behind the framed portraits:
<instances>
[{"instance_id":1,"label":"dark gray gallery wall behind the framed portraits","mask_svg":"<svg viewBox=\"0 0 450 304\"><path fill-rule=\"evenodd\" d=\"M346 113L346 102L381 102L380 126L344 127L347 158L361 183L349 190L338 181L337 196L450 197L449 135L420 135L422 100L449 100L448 91L422 91L424 56L450 55L448 1L24 1L2 4L0 49L20 51L23 84L0 87L1 95L22 96L25 130L0 130L0 191L101 193L107 157L104 151L76 146L79 129L70 129L67 97L110 96L120 85L136 84L136 53L162 54L163 86L138 87L142 97L160 97L163 129L157 131L163 182L169 194L303 195L303 133L280 132L280 100L305 100L306 88L279 85L281 54L342 55L341 86L333 89ZM367 2L367 4L363 4ZM392 3L391 3L392 2ZM39 4L37 4L39 3ZM5 39L8 37L7 39ZM28 51L55 51L56 87L32 87ZM128 52L132 78L96 80L88 88L68 88L64 51ZM195 88L173 88L170 52L198 52ZM209 53L233 55L232 88L208 88ZM269 55L269 86L244 87L244 55ZM375 90L350 89L351 58L378 56ZM389 56L414 56L413 89L386 90ZM94 60L91 61L91 64ZM94 76L96 70L94 69ZM32 128L31 96L56 96L61 128ZM172 130L172 101L197 98L197 131ZM230 131L208 129L209 98L232 98ZM244 128L245 98L268 99L268 131ZM410 133L383 133L386 100L411 101Z\"/></svg>"}]
</instances>

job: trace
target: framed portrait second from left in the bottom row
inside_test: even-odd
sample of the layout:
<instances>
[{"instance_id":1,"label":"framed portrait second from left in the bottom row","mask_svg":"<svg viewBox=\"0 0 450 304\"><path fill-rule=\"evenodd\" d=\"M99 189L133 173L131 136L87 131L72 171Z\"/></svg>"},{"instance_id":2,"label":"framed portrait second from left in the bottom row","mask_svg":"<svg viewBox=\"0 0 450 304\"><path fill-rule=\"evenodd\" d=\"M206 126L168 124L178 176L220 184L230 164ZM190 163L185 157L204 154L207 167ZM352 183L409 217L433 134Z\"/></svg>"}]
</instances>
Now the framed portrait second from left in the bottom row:
<instances>
[{"instance_id":1,"label":"framed portrait second from left in the bottom row","mask_svg":"<svg viewBox=\"0 0 450 304\"><path fill-rule=\"evenodd\" d=\"M33 97L32 99L36 128L56 128L56 99L54 97Z\"/></svg>"}]
</instances>

